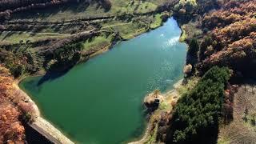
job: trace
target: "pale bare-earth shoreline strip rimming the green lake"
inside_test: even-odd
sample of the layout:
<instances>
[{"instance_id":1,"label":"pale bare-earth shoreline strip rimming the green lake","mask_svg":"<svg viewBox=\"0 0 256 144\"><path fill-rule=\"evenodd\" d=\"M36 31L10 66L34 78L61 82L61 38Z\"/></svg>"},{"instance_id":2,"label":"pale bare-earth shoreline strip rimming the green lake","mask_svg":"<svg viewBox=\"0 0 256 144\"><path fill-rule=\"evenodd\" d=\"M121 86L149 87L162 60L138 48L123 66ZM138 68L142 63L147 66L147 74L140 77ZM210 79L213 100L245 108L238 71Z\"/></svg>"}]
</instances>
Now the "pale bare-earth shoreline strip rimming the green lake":
<instances>
[{"instance_id":1,"label":"pale bare-earth shoreline strip rimming the green lake","mask_svg":"<svg viewBox=\"0 0 256 144\"><path fill-rule=\"evenodd\" d=\"M170 18L172 18L171 15L170 15ZM162 23L164 23L164 22L162 22ZM160 27L160 26L158 26L158 27ZM156 27L155 29L157 29L158 27ZM152 30L154 30L154 29L152 29ZM136 38L136 37L138 37L139 35L142 35L142 34L146 34L146 33L150 32L150 31L151 31L151 29L148 30L148 31L146 31L146 30L143 31L142 30L139 33L135 34L133 38ZM98 50L95 50L92 54L89 55L88 58L83 58L82 60L77 62L74 66L76 66L76 65L78 65L78 64L80 64L82 62L86 62L90 58L94 58L95 56L98 56L99 54L106 53L108 50L111 50L113 48L113 46L118 44L119 42L127 41L127 40L130 40L130 39L132 39L132 38L129 38L129 39L123 39L122 38L121 40L112 42L108 46L103 46L102 48L100 48ZM34 122L32 122L32 124L34 126L41 128L47 134L50 134L50 136L52 136L53 138L58 140L58 142L60 142L60 143L74 144L74 142L72 142L65 134L63 134L63 132L61 130L58 130L58 128L56 128L53 124L51 124L50 121L48 121L48 120L46 120L45 118L42 117L37 104L33 101L32 98L30 98L29 94L26 94L26 91L22 90L18 86L18 84L20 82L22 82L22 80L27 78L27 77L38 77L38 76L42 76L44 74L46 74L45 70L39 70L35 74L25 74L25 75L22 75L22 77L18 78L16 81L14 81L13 86L14 86L14 88L16 90L18 90L20 92L20 94L22 94L24 96L24 98L26 98L26 101L28 101L28 102L30 102L32 104L33 109L34 109L34 111L33 111L34 113L32 114L34 116ZM172 90L170 90L170 91L172 91ZM167 91L166 94L170 93L170 91ZM164 95L166 95L166 94L164 94ZM144 134L142 134L142 138L139 138L139 140L136 141L136 142L128 142L128 143L129 144L140 144L140 143L142 143L143 140L145 140L149 136L150 128L151 127L152 126L150 125L150 122L146 122L146 130L144 131Z\"/></svg>"}]
</instances>

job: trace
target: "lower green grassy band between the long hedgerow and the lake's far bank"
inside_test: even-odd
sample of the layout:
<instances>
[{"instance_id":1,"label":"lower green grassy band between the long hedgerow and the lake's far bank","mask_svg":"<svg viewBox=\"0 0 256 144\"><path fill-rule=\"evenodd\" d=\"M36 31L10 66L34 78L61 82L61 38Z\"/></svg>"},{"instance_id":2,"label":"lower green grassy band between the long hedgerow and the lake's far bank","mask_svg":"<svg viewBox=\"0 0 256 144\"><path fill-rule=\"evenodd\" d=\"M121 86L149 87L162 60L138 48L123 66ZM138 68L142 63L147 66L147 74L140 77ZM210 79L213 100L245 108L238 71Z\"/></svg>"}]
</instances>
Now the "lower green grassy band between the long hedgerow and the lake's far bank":
<instances>
[{"instance_id":1,"label":"lower green grassy band between the long hedgerow and the lake's far bank","mask_svg":"<svg viewBox=\"0 0 256 144\"><path fill-rule=\"evenodd\" d=\"M138 16L137 18L133 18L131 21L122 21L118 19L110 19L108 21L98 21L98 24L102 26L101 30L105 31L118 31L120 36L125 39L134 38L135 36L146 32L149 29L157 28L162 25L162 14L157 14L156 16ZM64 23L65 24L65 23ZM34 26L36 27L36 26ZM86 29L90 30L88 26ZM71 34L72 30L76 32L82 32L84 30L79 30L79 27L76 26L68 26L64 25L59 26L49 26L46 28L42 28L39 30L25 30L25 31L4 31L0 34L0 41L6 43L18 43L21 40L26 41L30 40L30 42L35 42L38 40L46 39L46 38L67 38ZM38 32L33 32L38 31ZM58 33L67 33L60 34ZM102 40L104 37L101 38ZM98 38L95 39L98 42ZM94 40L93 40L94 41ZM105 39L105 42L110 42L109 39Z\"/></svg>"}]
</instances>

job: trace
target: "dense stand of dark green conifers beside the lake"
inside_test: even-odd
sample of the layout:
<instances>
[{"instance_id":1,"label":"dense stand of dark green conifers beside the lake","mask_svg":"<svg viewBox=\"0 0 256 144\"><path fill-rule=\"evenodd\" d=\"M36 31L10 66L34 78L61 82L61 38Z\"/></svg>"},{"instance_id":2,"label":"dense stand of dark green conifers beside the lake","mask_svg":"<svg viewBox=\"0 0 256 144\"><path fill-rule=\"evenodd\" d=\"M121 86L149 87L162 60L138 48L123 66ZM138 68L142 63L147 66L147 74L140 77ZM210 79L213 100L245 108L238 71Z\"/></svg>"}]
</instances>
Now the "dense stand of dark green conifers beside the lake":
<instances>
[{"instance_id":1,"label":"dense stand of dark green conifers beside the lake","mask_svg":"<svg viewBox=\"0 0 256 144\"><path fill-rule=\"evenodd\" d=\"M182 95L170 119L167 143L214 141L218 134L218 120L222 116L224 90L229 78L229 69L214 66L204 74L193 90Z\"/></svg>"}]
</instances>

